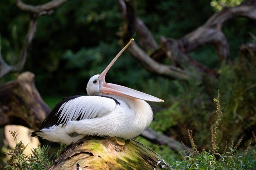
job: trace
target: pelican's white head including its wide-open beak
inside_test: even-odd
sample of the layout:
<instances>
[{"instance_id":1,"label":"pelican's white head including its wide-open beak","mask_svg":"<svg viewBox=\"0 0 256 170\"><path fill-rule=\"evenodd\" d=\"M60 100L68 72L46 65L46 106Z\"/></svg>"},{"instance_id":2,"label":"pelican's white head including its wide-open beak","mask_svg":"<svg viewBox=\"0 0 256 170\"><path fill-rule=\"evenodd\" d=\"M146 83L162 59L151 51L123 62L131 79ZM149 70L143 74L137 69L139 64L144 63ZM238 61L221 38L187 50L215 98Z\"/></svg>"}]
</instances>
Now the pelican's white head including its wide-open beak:
<instances>
[{"instance_id":1,"label":"pelican's white head including its wide-open beak","mask_svg":"<svg viewBox=\"0 0 256 170\"><path fill-rule=\"evenodd\" d=\"M117 54L117 56L110 62L110 64L105 68L105 70L100 75L94 75L90 78L86 90L88 95L104 95L104 94L111 94L111 95L118 95L122 97L128 98L135 98L135 99L142 99L150 102L164 102L164 100L159 99L157 97L148 95L146 93L142 93L140 91L133 90L128 87L120 86L117 84L111 84L105 82L105 77L108 70L111 66L115 63L121 53L130 45L130 43L134 39L131 39L128 44Z\"/></svg>"}]
</instances>

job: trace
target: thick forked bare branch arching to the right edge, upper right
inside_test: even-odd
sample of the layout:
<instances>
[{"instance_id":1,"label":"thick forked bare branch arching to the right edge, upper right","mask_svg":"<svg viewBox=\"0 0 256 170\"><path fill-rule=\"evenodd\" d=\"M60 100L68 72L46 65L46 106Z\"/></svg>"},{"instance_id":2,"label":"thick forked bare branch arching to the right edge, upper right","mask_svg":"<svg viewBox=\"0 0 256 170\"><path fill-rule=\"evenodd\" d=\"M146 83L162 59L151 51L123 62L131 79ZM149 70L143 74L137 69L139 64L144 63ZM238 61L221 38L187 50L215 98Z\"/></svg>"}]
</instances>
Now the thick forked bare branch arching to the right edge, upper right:
<instances>
[{"instance_id":1,"label":"thick forked bare branch arching to the right edge, upper right","mask_svg":"<svg viewBox=\"0 0 256 170\"><path fill-rule=\"evenodd\" d=\"M223 60L229 63L229 44L221 29L227 20L235 17L246 17L256 20L256 6L242 4L214 13L205 24L181 38L179 40L180 44L186 52L193 51L205 44L214 44L218 51L220 63Z\"/></svg>"}]
</instances>

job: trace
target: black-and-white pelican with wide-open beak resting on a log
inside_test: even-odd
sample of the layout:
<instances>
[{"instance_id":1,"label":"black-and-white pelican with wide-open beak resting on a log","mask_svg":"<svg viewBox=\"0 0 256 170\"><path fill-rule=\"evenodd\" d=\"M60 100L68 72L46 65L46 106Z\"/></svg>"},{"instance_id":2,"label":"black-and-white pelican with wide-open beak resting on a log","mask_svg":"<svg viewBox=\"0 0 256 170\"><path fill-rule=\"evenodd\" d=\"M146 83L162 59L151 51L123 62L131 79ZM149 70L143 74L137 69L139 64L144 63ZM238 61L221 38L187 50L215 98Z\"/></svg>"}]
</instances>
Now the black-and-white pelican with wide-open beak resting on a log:
<instances>
[{"instance_id":1,"label":"black-and-white pelican with wide-open beak resting on a log","mask_svg":"<svg viewBox=\"0 0 256 170\"><path fill-rule=\"evenodd\" d=\"M152 109L145 101L164 101L105 82L106 73L133 40L124 46L100 75L89 79L86 87L88 96L64 98L31 136L70 144L89 135L124 139L140 135L153 120Z\"/></svg>"}]
</instances>

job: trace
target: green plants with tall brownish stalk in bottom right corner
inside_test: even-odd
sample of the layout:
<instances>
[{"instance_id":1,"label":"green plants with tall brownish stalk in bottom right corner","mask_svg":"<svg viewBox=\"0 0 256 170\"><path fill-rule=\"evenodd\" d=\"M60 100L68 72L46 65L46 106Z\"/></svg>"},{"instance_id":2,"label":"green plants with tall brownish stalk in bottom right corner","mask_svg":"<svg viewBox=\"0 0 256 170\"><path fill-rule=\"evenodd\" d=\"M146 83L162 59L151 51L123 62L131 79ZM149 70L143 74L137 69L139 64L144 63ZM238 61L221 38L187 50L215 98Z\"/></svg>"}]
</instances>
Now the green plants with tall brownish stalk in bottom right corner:
<instances>
[{"instance_id":1,"label":"green plants with tall brownish stalk in bottom right corner","mask_svg":"<svg viewBox=\"0 0 256 170\"><path fill-rule=\"evenodd\" d=\"M218 91L218 97L214 99L216 103L216 119L211 127L211 142L212 150L202 150L198 152L195 142L193 140L192 131L188 130L188 136L191 143L191 150L188 148L186 152L180 152L181 161L175 161L173 163L173 169L177 170L252 170L256 167L256 151L250 150L252 142L256 142L254 132L253 138L249 141L246 150L238 152L238 147L243 140L243 136L240 137L237 144L234 145L234 141L231 142L229 150L227 150L227 142L225 144L225 150L223 153L218 152L218 146L216 139L218 138L218 127L222 120L220 110L220 92ZM185 146L185 145L184 145ZM186 147L186 146L185 146Z\"/></svg>"}]
</instances>

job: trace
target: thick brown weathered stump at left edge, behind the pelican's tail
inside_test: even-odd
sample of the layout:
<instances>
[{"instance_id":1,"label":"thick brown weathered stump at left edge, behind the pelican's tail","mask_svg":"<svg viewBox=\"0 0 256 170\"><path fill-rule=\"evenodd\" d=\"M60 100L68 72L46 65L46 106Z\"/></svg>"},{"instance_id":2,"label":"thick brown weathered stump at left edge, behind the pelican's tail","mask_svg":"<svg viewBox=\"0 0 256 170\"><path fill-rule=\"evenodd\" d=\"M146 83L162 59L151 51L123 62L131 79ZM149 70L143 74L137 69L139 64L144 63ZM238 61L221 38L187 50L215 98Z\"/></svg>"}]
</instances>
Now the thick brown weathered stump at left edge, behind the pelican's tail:
<instances>
[{"instance_id":1,"label":"thick brown weathered stump at left edge, behind the pelican's tail","mask_svg":"<svg viewBox=\"0 0 256 170\"><path fill-rule=\"evenodd\" d=\"M0 127L16 124L37 130L50 111L36 89L33 73L22 73L0 86Z\"/></svg>"}]
</instances>

